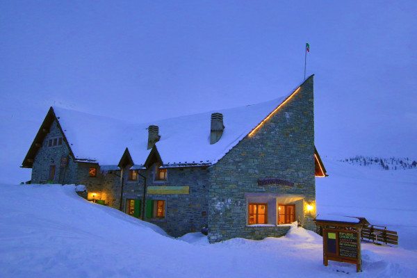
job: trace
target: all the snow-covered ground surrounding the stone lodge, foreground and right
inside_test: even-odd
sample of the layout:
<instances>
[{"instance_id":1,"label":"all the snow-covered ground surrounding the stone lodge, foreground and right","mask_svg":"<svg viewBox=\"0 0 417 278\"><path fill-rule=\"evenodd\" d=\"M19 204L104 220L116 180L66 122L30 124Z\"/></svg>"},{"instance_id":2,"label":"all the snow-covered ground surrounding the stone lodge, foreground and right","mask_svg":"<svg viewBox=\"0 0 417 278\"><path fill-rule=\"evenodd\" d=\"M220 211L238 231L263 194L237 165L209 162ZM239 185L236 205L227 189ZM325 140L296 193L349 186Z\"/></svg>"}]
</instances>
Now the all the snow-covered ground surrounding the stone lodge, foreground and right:
<instances>
[{"instance_id":1,"label":"all the snow-covered ground surrounding the stone lodge, foreground and right","mask_svg":"<svg viewBox=\"0 0 417 278\"><path fill-rule=\"evenodd\" d=\"M170 238L147 222L78 197L74 186L0 185L0 277L417 277L417 170L324 161L318 213L366 217L400 246L362 244L356 266L322 265L322 239L295 226L282 238L209 245Z\"/></svg>"}]
</instances>

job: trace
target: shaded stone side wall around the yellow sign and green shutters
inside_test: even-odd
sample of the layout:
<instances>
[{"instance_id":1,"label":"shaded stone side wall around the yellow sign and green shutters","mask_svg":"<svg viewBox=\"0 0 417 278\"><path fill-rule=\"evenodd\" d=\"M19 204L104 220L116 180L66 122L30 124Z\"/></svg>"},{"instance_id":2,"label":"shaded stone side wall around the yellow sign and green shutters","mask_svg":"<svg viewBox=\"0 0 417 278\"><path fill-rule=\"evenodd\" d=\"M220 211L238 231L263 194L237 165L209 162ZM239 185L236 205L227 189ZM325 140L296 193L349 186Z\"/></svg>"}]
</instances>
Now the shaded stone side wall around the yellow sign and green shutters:
<instances>
[{"instance_id":1,"label":"shaded stone side wall around the yellow sign and green shutters","mask_svg":"<svg viewBox=\"0 0 417 278\"><path fill-rule=\"evenodd\" d=\"M174 237L201 231L208 224L208 170L206 167L167 168L166 181L154 181L155 165L140 170L147 178L147 186L189 186L190 194L147 194L146 199L165 200L165 219L145 218ZM143 198L142 177L128 181L124 171L123 211L126 199ZM145 208L146 211L146 208Z\"/></svg>"}]
</instances>

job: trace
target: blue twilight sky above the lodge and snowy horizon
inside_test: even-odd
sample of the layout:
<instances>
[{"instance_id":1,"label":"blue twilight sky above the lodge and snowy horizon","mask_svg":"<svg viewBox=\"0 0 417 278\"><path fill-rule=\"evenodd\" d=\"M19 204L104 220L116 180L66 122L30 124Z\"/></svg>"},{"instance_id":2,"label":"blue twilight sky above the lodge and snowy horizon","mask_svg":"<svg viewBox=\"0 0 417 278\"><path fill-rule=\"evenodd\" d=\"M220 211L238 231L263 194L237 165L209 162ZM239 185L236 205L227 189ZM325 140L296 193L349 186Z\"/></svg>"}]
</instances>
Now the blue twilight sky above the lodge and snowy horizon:
<instances>
[{"instance_id":1,"label":"blue twilight sky above the lodge and snowy horizon","mask_svg":"<svg viewBox=\"0 0 417 278\"><path fill-rule=\"evenodd\" d=\"M322 156L417 159L417 1L0 1L0 167L49 106L140 122L315 75ZM8 157L5 161L4 157Z\"/></svg>"}]
</instances>

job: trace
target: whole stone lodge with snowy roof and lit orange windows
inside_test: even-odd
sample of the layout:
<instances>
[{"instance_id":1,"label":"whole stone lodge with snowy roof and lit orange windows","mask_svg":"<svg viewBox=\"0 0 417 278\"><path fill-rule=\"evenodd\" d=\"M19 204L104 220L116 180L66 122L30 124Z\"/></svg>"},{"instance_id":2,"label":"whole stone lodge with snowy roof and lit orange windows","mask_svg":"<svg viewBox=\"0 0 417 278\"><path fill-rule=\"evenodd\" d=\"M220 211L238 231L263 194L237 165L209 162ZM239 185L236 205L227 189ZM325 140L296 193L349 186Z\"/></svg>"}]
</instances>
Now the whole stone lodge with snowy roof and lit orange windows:
<instances>
[{"instance_id":1,"label":"whole stone lodge with snowy roof and lit orange windows","mask_svg":"<svg viewBox=\"0 0 417 278\"><path fill-rule=\"evenodd\" d=\"M88 200L171 236L211 243L316 230L313 76L261 104L148 124L50 108L22 167L31 183L75 183Z\"/></svg>"}]
</instances>

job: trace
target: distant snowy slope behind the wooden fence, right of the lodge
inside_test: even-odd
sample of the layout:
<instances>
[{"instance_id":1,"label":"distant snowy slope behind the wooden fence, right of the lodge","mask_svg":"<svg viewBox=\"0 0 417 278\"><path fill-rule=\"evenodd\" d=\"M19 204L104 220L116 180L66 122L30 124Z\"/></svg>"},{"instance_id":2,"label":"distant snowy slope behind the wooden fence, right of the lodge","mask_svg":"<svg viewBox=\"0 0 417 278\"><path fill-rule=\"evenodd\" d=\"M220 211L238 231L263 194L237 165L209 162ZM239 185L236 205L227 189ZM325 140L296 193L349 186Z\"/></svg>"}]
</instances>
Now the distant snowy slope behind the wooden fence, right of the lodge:
<instances>
[{"instance_id":1,"label":"distant snowy slope behind the wooden fence, right of the lodge","mask_svg":"<svg viewBox=\"0 0 417 278\"><path fill-rule=\"evenodd\" d=\"M329 177L316 179L317 213L357 216L398 231L417 250L417 169L386 171L323 159Z\"/></svg>"}]
</instances>

